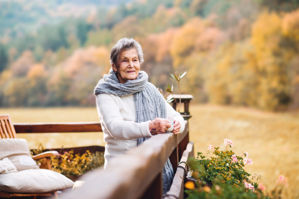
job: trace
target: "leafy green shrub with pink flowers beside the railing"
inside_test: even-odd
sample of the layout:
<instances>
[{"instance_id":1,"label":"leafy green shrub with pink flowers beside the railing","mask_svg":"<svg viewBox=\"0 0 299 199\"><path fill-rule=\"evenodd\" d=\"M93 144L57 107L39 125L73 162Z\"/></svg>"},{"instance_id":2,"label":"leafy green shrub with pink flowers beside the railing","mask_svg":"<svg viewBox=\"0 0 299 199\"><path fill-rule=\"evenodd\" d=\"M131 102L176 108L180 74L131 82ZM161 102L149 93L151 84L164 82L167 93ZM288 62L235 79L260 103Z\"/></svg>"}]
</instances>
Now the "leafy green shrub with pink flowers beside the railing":
<instances>
[{"instance_id":1,"label":"leafy green shrub with pink flowers beside the railing","mask_svg":"<svg viewBox=\"0 0 299 199\"><path fill-rule=\"evenodd\" d=\"M288 187L288 179L279 176L275 186L266 190L262 183L259 185L252 180L261 179L261 176L247 173L245 165L252 165L248 153L242 151L241 156L228 147L233 146L231 140L224 140L225 148L219 151L219 147L209 145L206 156L201 152L197 158L188 160L195 183L188 181L185 184L187 199L281 199L285 188ZM213 151L215 157L208 159L208 154ZM196 181L197 180L197 181ZM212 183L210 188L206 184Z\"/></svg>"}]
</instances>

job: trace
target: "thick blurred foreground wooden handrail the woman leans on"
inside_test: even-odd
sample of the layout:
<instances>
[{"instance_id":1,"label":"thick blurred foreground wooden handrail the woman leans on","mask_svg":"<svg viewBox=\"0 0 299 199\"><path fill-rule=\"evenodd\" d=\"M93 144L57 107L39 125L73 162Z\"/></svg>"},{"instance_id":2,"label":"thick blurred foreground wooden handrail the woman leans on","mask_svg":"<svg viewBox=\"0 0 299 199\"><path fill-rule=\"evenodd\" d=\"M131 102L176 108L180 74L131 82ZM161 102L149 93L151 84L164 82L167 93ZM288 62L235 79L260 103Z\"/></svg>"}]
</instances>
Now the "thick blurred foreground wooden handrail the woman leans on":
<instances>
[{"instance_id":1,"label":"thick blurred foreground wooden handrail the woman leans on","mask_svg":"<svg viewBox=\"0 0 299 199\"><path fill-rule=\"evenodd\" d=\"M186 136L188 122L182 134L152 136L125 155L111 159L105 170L98 169L81 180L81 188L61 199L140 199L161 173L168 157Z\"/></svg>"}]
</instances>

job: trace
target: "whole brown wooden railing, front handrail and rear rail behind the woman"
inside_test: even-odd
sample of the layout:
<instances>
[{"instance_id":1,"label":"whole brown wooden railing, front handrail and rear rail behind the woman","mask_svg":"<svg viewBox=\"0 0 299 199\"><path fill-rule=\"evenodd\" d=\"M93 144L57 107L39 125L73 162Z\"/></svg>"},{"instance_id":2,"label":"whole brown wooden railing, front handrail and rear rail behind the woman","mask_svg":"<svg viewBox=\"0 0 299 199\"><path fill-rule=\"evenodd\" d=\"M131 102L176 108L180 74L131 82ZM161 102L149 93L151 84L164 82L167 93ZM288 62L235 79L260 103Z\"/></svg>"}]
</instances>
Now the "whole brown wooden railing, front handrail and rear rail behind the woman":
<instances>
[{"instance_id":1,"label":"whole brown wooden railing, front handrail and rear rail behind the woman","mask_svg":"<svg viewBox=\"0 0 299 199\"><path fill-rule=\"evenodd\" d=\"M99 122L81 123L14 123L16 133L101 132ZM83 147L84 148L84 147ZM189 126L185 121L182 134L152 136L123 156L111 160L108 167L97 169L85 177L79 189L66 193L62 199L161 199L162 169L170 159L175 177L166 199L183 199L185 173L177 168L179 161L193 156L193 143L189 142ZM184 164L180 166L185 167Z\"/></svg>"}]
</instances>

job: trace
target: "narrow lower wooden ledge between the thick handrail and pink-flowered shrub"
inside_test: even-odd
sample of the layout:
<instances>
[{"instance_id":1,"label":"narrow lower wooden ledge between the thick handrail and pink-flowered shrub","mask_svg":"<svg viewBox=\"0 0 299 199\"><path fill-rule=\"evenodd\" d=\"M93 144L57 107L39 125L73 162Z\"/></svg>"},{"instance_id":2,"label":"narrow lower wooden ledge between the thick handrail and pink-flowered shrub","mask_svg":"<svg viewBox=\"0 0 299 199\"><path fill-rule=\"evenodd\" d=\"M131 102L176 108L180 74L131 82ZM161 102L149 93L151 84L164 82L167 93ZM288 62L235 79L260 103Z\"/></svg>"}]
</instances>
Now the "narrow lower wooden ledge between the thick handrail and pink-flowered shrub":
<instances>
[{"instance_id":1,"label":"narrow lower wooden ledge between the thick handrail and pink-flowered shrub","mask_svg":"<svg viewBox=\"0 0 299 199\"><path fill-rule=\"evenodd\" d=\"M180 162L187 162L189 157L194 157L193 142L188 143L187 148L184 151L182 158L180 159ZM179 166L182 166L187 170L187 167L184 163L179 164ZM184 179L185 179L185 171L182 168L177 168L170 190L169 192L166 193L166 195L169 194L169 195L176 196L178 199L183 199ZM174 197L166 196L164 199L174 199Z\"/></svg>"}]
</instances>

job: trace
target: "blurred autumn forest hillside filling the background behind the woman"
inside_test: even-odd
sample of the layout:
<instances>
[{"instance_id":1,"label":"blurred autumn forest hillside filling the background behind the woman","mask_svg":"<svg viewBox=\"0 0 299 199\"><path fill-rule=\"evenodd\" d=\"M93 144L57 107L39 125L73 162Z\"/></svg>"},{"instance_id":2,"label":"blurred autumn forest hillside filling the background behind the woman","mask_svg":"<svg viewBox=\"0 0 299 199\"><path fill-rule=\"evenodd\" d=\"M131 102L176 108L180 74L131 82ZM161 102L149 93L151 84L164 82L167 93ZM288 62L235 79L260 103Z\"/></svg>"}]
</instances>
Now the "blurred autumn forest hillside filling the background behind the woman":
<instances>
[{"instance_id":1,"label":"blurred autumn forest hillside filling the background behind the woman","mask_svg":"<svg viewBox=\"0 0 299 199\"><path fill-rule=\"evenodd\" d=\"M0 1L0 106L95 105L122 37L157 87L187 71L197 102L299 108L299 0Z\"/></svg>"}]
</instances>

